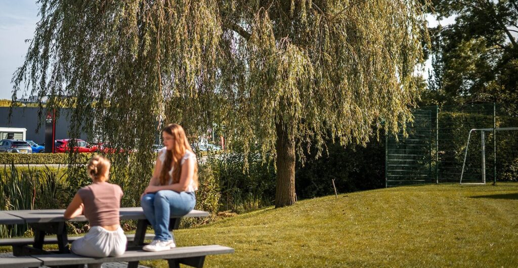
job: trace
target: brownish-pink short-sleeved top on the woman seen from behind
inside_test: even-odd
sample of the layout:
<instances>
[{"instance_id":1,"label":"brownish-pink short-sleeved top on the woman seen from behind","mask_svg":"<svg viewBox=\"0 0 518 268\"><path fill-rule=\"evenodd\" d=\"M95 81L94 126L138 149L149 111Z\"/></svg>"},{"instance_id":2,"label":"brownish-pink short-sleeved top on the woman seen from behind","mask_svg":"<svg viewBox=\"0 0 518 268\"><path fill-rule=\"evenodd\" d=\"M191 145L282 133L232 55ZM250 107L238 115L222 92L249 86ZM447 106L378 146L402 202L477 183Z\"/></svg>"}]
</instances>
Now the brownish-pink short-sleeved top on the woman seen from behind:
<instances>
[{"instance_id":1,"label":"brownish-pink short-sleeved top on the woman seen from behind","mask_svg":"<svg viewBox=\"0 0 518 268\"><path fill-rule=\"evenodd\" d=\"M84 204L84 216L90 226L120 224L119 209L124 193L117 184L92 183L77 192Z\"/></svg>"}]
</instances>

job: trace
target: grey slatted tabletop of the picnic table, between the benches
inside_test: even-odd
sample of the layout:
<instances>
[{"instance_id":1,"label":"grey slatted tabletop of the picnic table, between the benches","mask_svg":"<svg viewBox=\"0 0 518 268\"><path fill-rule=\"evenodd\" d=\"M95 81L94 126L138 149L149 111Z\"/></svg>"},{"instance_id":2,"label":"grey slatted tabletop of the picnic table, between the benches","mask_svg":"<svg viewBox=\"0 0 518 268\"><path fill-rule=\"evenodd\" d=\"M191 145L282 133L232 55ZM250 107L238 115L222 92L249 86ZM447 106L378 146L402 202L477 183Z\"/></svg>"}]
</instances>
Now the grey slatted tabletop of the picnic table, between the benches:
<instances>
[{"instance_id":1,"label":"grey slatted tabletop of the picnic table, between the benches","mask_svg":"<svg viewBox=\"0 0 518 268\"><path fill-rule=\"evenodd\" d=\"M63 213L65 210L18 210L18 211L0 211L0 224L34 224L46 222L65 221ZM208 212L192 210L183 217L207 217ZM145 219L146 216L142 212L142 207L121 207L120 219ZM171 218L175 216L171 215ZM69 221L87 221L83 215L77 216Z\"/></svg>"}]
</instances>

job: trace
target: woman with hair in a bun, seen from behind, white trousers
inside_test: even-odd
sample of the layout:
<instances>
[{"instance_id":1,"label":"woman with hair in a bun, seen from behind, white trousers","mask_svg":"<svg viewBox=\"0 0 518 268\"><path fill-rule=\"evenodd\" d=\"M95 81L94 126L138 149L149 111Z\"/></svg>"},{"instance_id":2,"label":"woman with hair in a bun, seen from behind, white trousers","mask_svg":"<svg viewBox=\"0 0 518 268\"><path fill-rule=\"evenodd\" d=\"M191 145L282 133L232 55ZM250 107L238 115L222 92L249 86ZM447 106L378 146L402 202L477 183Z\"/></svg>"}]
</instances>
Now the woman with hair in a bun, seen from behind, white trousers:
<instances>
[{"instance_id":1,"label":"woman with hair in a bun, seen from behind, white trousers","mask_svg":"<svg viewBox=\"0 0 518 268\"><path fill-rule=\"evenodd\" d=\"M88 234L72 243L75 254L88 257L117 257L126 251L126 236L120 226L119 209L123 192L117 184L108 183L111 163L103 156L93 156L87 165L92 184L79 189L68 205L64 217L78 215L90 222ZM89 267L100 267L89 264Z\"/></svg>"}]
</instances>

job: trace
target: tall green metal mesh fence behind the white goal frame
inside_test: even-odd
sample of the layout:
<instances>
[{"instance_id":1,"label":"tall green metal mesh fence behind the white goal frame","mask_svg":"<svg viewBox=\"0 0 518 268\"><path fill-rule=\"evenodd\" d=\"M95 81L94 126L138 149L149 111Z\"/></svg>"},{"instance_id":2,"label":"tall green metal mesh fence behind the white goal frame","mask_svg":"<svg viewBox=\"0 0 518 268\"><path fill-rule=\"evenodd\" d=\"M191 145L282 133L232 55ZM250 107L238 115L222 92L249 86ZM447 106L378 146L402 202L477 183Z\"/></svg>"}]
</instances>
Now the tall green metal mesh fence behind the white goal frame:
<instances>
[{"instance_id":1,"label":"tall green metal mesh fence behind the white goal frame","mask_svg":"<svg viewBox=\"0 0 518 268\"><path fill-rule=\"evenodd\" d=\"M518 185L518 116L494 103L422 107L386 137L386 187L424 183Z\"/></svg>"}]
</instances>

